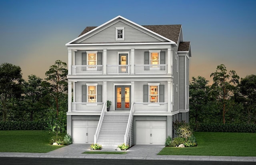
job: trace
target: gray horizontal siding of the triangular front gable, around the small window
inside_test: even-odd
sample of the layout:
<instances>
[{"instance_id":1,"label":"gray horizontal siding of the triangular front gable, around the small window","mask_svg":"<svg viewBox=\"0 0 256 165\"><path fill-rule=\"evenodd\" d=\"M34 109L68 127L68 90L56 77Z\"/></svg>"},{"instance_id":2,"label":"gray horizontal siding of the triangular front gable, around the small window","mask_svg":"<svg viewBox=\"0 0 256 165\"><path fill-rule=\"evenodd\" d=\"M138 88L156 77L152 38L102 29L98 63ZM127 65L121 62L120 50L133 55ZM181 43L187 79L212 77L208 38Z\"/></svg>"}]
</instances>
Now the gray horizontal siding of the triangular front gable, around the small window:
<instances>
[{"instance_id":1,"label":"gray horizontal siding of the triangular front gable, around the small window","mask_svg":"<svg viewBox=\"0 0 256 165\"><path fill-rule=\"evenodd\" d=\"M116 41L116 27L124 27L124 41ZM107 43L107 42L160 42L160 40L119 21L108 28L90 36L80 43Z\"/></svg>"}]
</instances>

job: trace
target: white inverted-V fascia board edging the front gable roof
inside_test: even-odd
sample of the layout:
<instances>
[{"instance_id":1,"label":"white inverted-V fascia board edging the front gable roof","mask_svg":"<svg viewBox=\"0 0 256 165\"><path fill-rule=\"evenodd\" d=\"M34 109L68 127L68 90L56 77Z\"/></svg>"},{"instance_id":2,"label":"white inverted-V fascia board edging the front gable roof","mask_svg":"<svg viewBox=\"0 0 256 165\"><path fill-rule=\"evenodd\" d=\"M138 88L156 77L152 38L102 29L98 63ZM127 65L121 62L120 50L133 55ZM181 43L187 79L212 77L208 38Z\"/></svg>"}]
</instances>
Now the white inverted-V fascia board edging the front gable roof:
<instances>
[{"instance_id":1,"label":"white inverted-V fascia board edging the front gable roof","mask_svg":"<svg viewBox=\"0 0 256 165\"><path fill-rule=\"evenodd\" d=\"M164 36L161 36L160 34L157 34L157 33L153 32L153 31L151 31L151 30L149 30L149 29L147 29L147 28L144 28L143 26L140 26L139 24L136 24L135 22L132 22L132 21L130 21L130 20L128 20L128 19L126 19L126 18L124 18L124 17L122 17L122 16L117 16L117 17L113 18L112 20L109 20L108 22L106 22L106 23L104 23L104 24L102 24L102 25L100 25L100 26L94 28L93 30L91 30L91 31L89 31L89 32L87 32L87 33L85 33L85 34L83 34L82 36L80 36L80 37L78 37L78 38L75 38L74 40L68 42L68 43L66 44L66 46L68 46L68 45L71 44L72 42L75 42L76 40L79 40L80 38L82 38L82 37L84 37L84 36L86 36L86 35L88 35L88 34L94 32L94 31L98 30L99 28L105 26L106 24L109 24L110 22L113 22L114 20L117 20L118 18L121 18L121 19L123 19L123 20L126 20L127 22L130 22L131 24L134 24L135 26L138 26L138 27L140 27L140 28L142 28L142 29L144 29L144 30L146 30L146 31L148 31L148 32L150 32L150 33L152 33L152 34L154 34L154 35L160 37L160 38L163 38L164 40L169 41L171 44L176 44L174 41L172 41L172 40L170 40L170 39L168 39L168 38L166 38L166 37L164 37Z\"/></svg>"}]
</instances>

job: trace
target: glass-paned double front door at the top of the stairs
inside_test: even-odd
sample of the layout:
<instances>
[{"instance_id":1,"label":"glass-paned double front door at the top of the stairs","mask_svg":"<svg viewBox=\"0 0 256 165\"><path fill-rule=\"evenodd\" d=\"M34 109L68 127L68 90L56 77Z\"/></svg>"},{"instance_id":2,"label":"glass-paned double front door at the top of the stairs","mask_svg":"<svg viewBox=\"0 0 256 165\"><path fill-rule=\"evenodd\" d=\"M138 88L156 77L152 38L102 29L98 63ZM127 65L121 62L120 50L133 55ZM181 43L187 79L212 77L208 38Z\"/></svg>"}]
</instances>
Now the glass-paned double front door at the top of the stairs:
<instances>
[{"instance_id":1,"label":"glass-paned double front door at the top of the stairs","mask_svg":"<svg viewBox=\"0 0 256 165\"><path fill-rule=\"evenodd\" d=\"M115 86L115 110L131 109L131 86Z\"/></svg>"}]
</instances>

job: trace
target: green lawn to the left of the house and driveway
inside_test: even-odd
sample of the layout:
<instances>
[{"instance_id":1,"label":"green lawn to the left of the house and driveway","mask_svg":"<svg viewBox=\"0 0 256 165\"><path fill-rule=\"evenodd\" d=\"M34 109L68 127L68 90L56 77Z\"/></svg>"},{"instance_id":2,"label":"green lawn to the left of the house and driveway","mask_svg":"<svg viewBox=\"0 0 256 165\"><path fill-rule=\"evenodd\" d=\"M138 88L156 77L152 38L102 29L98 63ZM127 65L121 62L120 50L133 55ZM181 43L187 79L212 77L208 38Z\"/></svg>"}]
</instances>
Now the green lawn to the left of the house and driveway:
<instances>
[{"instance_id":1,"label":"green lawn to the left of the house and driveway","mask_svg":"<svg viewBox=\"0 0 256 165\"><path fill-rule=\"evenodd\" d=\"M50 134L44 130L0 131L0 152L47 153L63 147L50 145ZM61 134L63 137L64 134Z\"/></svg>"}]
</instances>

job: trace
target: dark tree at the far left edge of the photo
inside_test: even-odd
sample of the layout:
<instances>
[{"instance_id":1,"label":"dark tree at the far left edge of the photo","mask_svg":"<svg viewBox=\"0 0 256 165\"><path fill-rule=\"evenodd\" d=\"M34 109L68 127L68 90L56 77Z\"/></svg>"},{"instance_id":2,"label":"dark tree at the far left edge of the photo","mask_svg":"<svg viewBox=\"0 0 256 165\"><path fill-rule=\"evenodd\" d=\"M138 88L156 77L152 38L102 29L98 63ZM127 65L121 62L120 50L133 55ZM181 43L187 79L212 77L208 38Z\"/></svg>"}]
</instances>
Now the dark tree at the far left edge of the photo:
<instances>
[{"instance_id":1,"label":"dark tree at the far left edge of the photo","mask_svg":"<svg viewBox=\"0 0 256 165\"><path fill-rule=\"evenodd\" d=\"M3 121L6 121L8 103L22 93L22 74L19 66L4 63L0 65L0 102Z\"/></svg>"}]
</instances>

